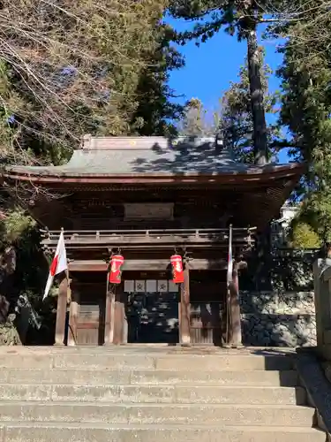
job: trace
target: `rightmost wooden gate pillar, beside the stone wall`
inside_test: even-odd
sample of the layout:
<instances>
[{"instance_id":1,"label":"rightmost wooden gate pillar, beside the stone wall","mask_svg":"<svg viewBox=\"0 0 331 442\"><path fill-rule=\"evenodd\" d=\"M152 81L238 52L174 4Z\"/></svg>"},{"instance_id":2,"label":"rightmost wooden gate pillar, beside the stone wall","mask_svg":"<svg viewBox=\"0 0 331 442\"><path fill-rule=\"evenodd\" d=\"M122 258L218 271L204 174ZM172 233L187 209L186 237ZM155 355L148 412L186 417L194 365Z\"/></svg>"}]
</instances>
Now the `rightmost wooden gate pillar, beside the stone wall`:
<instances>
[{"instance_id":1,"label":"rightmost wooden gate pillar, beside the stone wall","mask_svg":"<svg viewBox=\"0 0 331 442\"><path fill-rule=\"evenodd\" d=\"M239 279L237 263L234 263L232 282L229 285L229 345L240 347L242 343L241 316L239 304Z\"/></svg>"}]
</instances>

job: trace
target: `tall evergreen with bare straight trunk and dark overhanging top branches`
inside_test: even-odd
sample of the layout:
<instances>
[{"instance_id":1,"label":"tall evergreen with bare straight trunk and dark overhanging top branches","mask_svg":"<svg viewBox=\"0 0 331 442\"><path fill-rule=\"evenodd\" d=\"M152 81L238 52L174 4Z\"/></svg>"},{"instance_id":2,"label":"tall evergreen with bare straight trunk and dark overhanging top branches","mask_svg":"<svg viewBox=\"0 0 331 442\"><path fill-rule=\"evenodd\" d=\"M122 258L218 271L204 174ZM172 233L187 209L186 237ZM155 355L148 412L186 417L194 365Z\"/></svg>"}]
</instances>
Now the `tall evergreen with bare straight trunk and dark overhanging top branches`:
<instances>
[{"instance_id":1,"label":"tall evergreen with bare straight trunk and dark overhanging top branches","mask_svg":"<svg viewBox=\"0 0 331 442\"><path fill-rule=\"evenodd\" d=\"M215 33L225 28L247 42L247 65L250 86L250 103L253 120L254 157L258 164L267 159L267 124L265 117L261 59L257 40L257 26L263 21L267 0L171 0L169 11L176 18L198 20L192 32L178 35L180 42L200 39L206 42Z\"/></svg>"}]
</instances>

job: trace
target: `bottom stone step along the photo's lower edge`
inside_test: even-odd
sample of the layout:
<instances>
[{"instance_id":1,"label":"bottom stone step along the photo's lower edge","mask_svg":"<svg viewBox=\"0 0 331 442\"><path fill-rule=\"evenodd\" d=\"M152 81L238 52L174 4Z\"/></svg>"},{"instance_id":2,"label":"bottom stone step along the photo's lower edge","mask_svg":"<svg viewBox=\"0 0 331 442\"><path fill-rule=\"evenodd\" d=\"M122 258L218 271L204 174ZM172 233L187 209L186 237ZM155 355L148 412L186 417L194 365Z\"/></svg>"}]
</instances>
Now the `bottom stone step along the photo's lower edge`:
<instances>
[{"instance_id":1,"label":"bottom stone step along the photo's lower edge","mask_svg":"<svg viewBox=\"0 0 331 442\"><path fill-rule=\"evenodd\" d=\"M322 431L300 427L1 423L2 442L325 442Z\"/></svg>"}]
</instances>

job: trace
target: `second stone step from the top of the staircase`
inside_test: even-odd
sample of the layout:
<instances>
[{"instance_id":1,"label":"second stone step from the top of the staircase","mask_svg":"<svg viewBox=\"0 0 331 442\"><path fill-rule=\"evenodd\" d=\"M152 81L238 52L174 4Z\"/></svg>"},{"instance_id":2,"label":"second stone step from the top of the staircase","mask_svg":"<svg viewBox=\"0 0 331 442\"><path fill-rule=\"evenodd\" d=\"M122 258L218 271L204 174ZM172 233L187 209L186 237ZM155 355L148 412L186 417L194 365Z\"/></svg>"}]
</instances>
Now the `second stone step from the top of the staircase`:
<instances>
[{"instance_id":1,"label":"second stone step from the top of the staircase","mask_svg":"<svg viewBox=\"0 0 331 442\"><path fill-rule=\"evenodd\" d=\"M3 369L8 384L296 386L297 371Z\"/></svg>"}]
</instances>

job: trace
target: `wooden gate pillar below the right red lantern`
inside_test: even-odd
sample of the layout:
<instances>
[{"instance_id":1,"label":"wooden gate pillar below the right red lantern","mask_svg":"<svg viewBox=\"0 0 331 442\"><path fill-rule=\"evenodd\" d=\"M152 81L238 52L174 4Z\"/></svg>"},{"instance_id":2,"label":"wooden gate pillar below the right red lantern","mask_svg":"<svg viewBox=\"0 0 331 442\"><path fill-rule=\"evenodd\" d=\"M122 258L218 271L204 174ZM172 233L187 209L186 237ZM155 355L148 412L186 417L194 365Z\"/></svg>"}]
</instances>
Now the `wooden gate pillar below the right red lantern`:
<instances>
[{"instance_id":1,"label":"wooden gate pillar below the right red lantern","mask_svg":"<svg viewBox=\"0 0 331 442\"><path fill-rule=\"evenodd\" d=\"M184 268L184 283L180 290L179 342L182 346L191 344L191 314L190 314L190 271L188 263Z\"/></svg>"}]
</instances>

